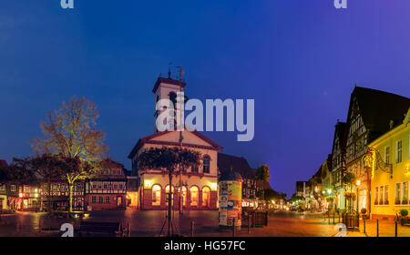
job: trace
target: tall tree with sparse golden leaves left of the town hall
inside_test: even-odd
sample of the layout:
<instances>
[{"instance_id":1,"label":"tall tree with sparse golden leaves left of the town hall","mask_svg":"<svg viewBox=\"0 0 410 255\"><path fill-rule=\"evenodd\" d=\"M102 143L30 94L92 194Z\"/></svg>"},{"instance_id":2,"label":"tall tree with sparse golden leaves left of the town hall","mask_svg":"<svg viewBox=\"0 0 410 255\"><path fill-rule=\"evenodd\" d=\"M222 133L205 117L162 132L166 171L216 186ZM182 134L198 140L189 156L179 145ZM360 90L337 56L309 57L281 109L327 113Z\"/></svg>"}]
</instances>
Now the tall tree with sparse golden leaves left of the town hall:
<instances>
[{"instance_id":1,"label":"tall tree with sparse golden leaves left of the town hall","mask_svg":"<svg viewBox=\"0 0 410 255\"><path fill-rule=\"evenodd\" d=\"M44 138L32 141L32 148L39 155L73 159L70 164L75 168L66 168L64 177L69 189L69 212L73 209L74 183L92 177L96 164L107 157L106 134L96 128L98 116L93 102L85 97L71 97L58 110L48 113L46 121L40 123Z\"/></svg>"}]
</instances>

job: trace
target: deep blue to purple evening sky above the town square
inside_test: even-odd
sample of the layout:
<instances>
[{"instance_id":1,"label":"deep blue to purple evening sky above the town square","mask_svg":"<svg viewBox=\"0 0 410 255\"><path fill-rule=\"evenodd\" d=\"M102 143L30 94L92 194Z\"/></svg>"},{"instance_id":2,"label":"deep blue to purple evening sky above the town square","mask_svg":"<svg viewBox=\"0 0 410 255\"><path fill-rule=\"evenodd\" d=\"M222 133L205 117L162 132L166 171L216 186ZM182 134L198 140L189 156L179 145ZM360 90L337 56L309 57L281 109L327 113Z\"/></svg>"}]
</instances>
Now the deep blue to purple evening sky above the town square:
<instances>
[{"instance_id":1,"label":"deep blue to purple evening sky above the town square","mask_svg":"<svg viewBox=\"0 0 410 255\"><path fill-rule=\"evenodd\" d=\"M151 89L168 63L186 94L254 98L255 138L206 134L223 152L267 163L292 195L331 152L354 84L410 96L410 2L348 0L3 1L0 158L32 154L40 120L78 95L97 103L110 156L153 130Z\"/></svg>"}]
</instances>

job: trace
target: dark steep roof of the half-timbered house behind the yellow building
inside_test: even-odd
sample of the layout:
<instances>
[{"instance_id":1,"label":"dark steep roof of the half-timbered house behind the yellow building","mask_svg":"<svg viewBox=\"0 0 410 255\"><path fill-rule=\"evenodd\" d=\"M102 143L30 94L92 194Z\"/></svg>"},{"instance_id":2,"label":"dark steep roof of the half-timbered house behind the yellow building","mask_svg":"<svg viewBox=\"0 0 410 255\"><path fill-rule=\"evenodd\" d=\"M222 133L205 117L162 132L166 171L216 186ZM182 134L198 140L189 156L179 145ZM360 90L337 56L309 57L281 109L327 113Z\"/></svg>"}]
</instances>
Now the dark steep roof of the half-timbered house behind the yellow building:
<instances>
[{"instance_id":1,"label":"dark steep roof of the half-timbered house behind the yellow building","mask_svg":"<svg viewBox=\"0 0 410 255\"><path fill-rule=\"evenodd\" d=\"M363 117L364 127L371 132L368 142L387 132L390 129L391 120L394 121L394 127L402 124L410 107L410 98L408 97L372 88L354 87L350 98L347 127L350 127L354 98L356 98L359 111ZM344 144L348 130L349 128L345 128Z\"/></svg>"}]
</instances>

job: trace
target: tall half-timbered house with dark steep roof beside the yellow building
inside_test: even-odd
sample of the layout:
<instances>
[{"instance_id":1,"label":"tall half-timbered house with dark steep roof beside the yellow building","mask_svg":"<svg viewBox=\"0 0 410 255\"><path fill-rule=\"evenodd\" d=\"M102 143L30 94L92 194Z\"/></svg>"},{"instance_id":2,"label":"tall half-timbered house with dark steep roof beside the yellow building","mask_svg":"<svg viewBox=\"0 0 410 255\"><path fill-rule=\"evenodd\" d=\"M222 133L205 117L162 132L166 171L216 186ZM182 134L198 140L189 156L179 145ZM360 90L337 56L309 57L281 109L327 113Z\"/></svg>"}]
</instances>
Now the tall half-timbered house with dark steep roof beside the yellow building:
<instances>
[{"instance_id":1,"label":"tall half-timbered house with dark steep roof beside the yellow building","mask_svg":"<svg viewBox=\"0 0 410 255\"><path fill-rule=\"evenodd\" d=\"M346 151L346 170L356 178L358 203L355 203L355 209L366 209L367 214L370 214L371 173L364 168L363 163L367 146L375 138L402 123L409 102L407 97L371 88L354 87L343 146Z\"/></svg>"}]
</instances>

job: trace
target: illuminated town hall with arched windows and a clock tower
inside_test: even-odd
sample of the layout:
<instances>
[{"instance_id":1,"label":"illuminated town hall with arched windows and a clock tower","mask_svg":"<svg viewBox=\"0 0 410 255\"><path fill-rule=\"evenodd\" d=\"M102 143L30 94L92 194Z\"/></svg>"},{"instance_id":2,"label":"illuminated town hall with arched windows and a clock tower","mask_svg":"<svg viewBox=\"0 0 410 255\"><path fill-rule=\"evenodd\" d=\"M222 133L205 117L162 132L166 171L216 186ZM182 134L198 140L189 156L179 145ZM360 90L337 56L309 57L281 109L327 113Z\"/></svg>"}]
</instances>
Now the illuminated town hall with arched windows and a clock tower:
<instances>
[{"instance_id":1,"label":"illuminated town hall with arched windows and a clock tower","mask_svg":"<svg viewBox=\"0 0 410 255\"><path fill-rule=\"evenodd\" d=\"M157 103L160 99L173 99L183 92L186 83L159 77L152 90ZM159 115L155 111L154 117ZM169 188L165 169L138 169L138 155L149 148L185 148L200 152L200 166L186 169L173 176ZM140 138L129 153L133 175L138 176L138 209L167 209L169 190L172 193L172 207L187 210L218 209L218 151L220 145L206 138L198 131L163 131ZM177 171L179 172L179 171Z\"/></svg>"}]
</instances>

